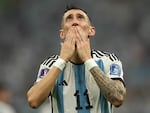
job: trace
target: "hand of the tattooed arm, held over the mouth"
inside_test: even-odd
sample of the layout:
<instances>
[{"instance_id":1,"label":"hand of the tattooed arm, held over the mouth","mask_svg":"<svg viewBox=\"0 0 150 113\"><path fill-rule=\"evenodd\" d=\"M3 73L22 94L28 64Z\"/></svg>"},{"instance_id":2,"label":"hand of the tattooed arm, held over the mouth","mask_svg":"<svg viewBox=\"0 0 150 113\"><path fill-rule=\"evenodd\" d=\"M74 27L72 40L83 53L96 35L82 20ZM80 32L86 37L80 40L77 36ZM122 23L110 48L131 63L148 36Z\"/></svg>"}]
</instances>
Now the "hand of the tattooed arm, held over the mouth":
<instances>
[{"instance_id":1,"label":"hand of the tattooed arm, held over the mouth","mask_svg":"<svg viewBox=\"0 0 150 113\"><path fill-rule=\"evenodd\" d=\"M77 52L80 59L85 62L91 58L91 47L88 34L80 27L75 28Z\"/></svg>"}]
</instances>

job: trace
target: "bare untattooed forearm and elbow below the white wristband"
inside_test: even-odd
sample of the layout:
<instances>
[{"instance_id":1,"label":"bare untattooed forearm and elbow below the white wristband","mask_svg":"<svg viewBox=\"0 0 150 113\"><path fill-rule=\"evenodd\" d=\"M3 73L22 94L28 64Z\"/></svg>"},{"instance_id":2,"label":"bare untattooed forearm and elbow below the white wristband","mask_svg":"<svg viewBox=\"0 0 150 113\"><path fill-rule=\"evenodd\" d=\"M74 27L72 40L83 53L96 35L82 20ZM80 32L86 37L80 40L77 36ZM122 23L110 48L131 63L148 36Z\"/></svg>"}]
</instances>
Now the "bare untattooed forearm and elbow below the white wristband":
<instances>
[{"instance_id":1,"label":"bare untattooed forearm and elbow below the white wristband","mask_svg":"<svg viewBox=\"0 0 150 113\"><path fill-rule=\"evenodd\" d=\"M53 67L41 81L29 89L27 97L31 107L37 108L49 96L59 73L60 69Z\"/></svg>"}]
</instances>

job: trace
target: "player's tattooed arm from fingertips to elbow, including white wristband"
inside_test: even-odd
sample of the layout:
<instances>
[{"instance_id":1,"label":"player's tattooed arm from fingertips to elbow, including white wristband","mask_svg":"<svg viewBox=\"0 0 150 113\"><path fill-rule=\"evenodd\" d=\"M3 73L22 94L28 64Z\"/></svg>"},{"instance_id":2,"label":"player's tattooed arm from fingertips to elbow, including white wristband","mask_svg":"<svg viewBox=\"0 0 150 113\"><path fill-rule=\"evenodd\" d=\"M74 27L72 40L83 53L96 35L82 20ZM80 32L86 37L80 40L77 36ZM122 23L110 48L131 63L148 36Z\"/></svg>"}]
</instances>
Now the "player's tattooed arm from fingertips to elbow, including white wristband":
<instances>
[{"instance_id":1,"label":"player's tattooed arm from fingertips to elbow, including white wristband","mask_svg":"<svg viewBox=\"0 0 150 113\"><path fill-rule=\"evenodd\" d=\"M89 40L85 38L85 34L82 29L80 29L80 27L77 27L76 35L79 57L82 59L83 62L85 62L87 67L91 67L91 64L93 63L87 64L87 61L89 62L89 59L91 59ZM105 98L113 105L117 107L120 106L123 103L124 97L126 95L126 89L123 83L119 80L112 80L111 78L106 76L105 73L103 73L103 71L98 66L94 66L89 69Z\"/></svg>"}]
</instances>

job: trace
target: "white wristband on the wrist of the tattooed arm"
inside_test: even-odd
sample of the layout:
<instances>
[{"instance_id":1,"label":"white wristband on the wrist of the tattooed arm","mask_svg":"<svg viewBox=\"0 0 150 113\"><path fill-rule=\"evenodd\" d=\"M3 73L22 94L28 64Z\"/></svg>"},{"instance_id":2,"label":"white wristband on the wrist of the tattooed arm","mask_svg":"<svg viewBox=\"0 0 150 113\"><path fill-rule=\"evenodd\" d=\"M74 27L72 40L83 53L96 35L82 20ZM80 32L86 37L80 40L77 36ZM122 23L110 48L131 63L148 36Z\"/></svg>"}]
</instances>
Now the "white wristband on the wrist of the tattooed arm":
<instances>
[{"instance_id":1,"label":"white wristband on the wrist of the tattooed arm","mask_svg":"<svg viewBox=\"0 0 150 113\"><path fill-rule=\"evenodd\" d=\"M85 64L85 67L87 68L87 70L91 70L93 67L98 66L96 64L95 60L92 58L86 60L84 64Z\"/></svg>"}]
</instances>

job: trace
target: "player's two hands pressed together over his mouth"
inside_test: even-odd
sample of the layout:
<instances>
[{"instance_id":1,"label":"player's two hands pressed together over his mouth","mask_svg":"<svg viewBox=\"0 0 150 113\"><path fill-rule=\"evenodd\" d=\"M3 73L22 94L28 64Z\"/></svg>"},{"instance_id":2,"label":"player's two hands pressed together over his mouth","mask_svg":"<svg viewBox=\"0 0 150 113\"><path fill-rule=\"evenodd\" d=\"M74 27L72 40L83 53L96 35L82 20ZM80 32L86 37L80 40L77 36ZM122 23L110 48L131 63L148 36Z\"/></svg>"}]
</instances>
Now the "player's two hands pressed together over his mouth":
<instances>
[{"instance_id":1,"label":"player's two hands pressed together over his mouth","mask_svg":"<svg viewBox=\"0 0 150 113\"><path fill-rule=\"evenodd\" d=\"M91 48L88 31L72 26L67 31L64 42L61 43L60 57L69 61L75 54L85 62L91 58Z\"/></svg>"}]
</instances>

